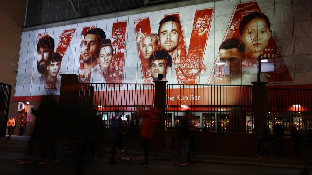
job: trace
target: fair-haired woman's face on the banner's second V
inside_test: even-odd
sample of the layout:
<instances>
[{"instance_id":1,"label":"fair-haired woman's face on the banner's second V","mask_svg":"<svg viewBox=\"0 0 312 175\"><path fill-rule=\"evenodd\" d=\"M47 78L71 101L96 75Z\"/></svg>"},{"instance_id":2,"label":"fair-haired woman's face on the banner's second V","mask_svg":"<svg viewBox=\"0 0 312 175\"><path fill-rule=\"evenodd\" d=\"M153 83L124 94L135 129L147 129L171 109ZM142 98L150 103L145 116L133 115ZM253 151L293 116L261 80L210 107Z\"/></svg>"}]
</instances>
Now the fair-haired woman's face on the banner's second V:
<instances>
[{"instance_id":1,"label":"fair-haired woman's face on the banner's second V","mask_svg":"<svg viewBox=\"0 0 312 175\"><path fill-rule=\"evenodd\" d=\"M145 59L149 59L149 57L158 49L158 44L155 41L155 38L152 36L145 36L142 40L141 52Z\"/></svg>"}]
</instances>

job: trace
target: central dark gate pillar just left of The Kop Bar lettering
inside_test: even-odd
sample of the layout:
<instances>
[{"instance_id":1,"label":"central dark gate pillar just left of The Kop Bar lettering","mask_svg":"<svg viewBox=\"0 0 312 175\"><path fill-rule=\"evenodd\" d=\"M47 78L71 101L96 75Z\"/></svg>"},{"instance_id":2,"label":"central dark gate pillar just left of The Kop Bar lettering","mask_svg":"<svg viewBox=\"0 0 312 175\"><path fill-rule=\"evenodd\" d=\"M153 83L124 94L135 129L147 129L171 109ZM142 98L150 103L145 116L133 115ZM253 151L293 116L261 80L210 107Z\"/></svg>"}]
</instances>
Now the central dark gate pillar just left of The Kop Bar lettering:
<instances>
[{"instance_id":1,"label":"central dark gate pillar just left of The Kop Bar lettering","mask_svg":"<svg viewBox=\"0 0 312 175\"><path fill-rule=\"evenodd\" d=\"M160 110L159 122L157 125L157 148L162 149L166 118L166 84L168 81L155 80L154 105Z\"/></svg>"}]
</instances>

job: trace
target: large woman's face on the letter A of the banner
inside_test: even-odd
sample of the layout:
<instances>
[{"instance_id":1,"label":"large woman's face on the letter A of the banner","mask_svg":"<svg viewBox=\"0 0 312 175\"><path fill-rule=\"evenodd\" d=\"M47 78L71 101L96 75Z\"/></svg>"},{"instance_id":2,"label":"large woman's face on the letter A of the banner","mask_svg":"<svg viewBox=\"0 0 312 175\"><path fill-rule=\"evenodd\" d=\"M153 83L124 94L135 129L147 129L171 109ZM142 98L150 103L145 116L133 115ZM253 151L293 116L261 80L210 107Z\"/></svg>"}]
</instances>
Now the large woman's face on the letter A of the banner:
<instances>
[{"instance_id":1,"label":"large woman's face on the letter A of the banner","mask_svg":"<svg viewBox=\"0 0 312 175\"><path fill-rule=\"evenodd\" d=\"M245 26L241 40L246 52L261 52L269 43L271 31L263 18L252 19Z\"/></svg>"}]
</instances>

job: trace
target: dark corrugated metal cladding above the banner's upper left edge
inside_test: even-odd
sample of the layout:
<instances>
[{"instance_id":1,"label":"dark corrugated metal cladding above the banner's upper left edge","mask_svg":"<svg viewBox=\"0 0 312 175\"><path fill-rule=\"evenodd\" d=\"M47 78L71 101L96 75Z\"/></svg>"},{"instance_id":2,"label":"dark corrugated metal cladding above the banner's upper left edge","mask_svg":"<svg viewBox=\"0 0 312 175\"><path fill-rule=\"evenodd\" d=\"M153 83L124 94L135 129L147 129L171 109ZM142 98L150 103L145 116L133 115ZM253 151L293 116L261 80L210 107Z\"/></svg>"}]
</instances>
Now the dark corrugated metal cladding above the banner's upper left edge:
<instances>
[{"instance_id":1,"label":"dark corrugated metal cladding above the banner's upper left edge","mask_svg":"<svg viewBox=\"0 0 312 175\"><path fill-rule=\"evenodd\" d=\"M144 6L144 0L72 0L78 18ZM167 0L167 2L171 2ZM70 0L28 0L26 26L77 18Z\"/></svg>"}]
</instances>

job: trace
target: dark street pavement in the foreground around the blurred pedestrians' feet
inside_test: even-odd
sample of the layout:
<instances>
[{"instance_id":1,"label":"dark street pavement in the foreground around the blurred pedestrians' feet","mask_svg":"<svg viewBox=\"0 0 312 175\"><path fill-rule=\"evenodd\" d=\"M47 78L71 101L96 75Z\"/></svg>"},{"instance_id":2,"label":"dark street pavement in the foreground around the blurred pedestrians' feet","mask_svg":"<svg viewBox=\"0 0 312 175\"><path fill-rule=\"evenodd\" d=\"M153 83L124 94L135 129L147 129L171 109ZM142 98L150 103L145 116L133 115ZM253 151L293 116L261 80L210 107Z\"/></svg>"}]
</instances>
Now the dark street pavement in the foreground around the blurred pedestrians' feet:
<instances>
[{"instance_id":1,"label":"dark street pavement in the foreground around the blurred pedestrians' feet","mask_svg":"<svg viewBox=\"0 0 312 175\"><path fill-rule=\"evenodd\" d=\"M26 169L30 168L35 168L35 165L21 165L19 163L16 163L14 161L15 158L19 158L22 156L22 153L24 150L27 148L28 140L30 139L29 136L12 136L10 141L5 141L4 138L0 139L0 161L2 162L2 165L0 165L0 168L8 168L8 169L13 169L14 171L24 172ZM92 169L92 167L103 167L102 170L109 168L108 161L110 157L110 150L109 149L99 149L99 153L97 154L98 159L97 160L83 160L83 161L78 161L75 159L74 153L66 153L65 147L62 145L59 145L58 147L58 153L60 156L60 163L58 164L53 164L53 163L47 163L45 165L46 167L51 166L51 172L52 170L55 170L54 165L57 165L58 168L64 169L64 172L62 173L68 173L67 169L70 169L69 172L81 172L80 168L84 169L87 171L87 174L92 172L92 170L89 171L89 168ZM36 156L37 158L39 157L39 147L36 147ZM171 168L181 168L180 163L180 152L174 152L174 151L164 151L164 150L151 150L149 154L150 158L150 164L158 164L159 166L163 167L171 167ZM120 153L117 153L116 155L116 160L120 162L119 165L116 167L122 166L122 164L125 163L124 167L136 167L140 168L139 163L143 161L143 151L141 149L135 149L135 148L130 148L129 151L129 156L132 160L130 161L125 161L121 160L121 155ZM86 154L86 157L88 157L88 154ZM291 158L282 158L282 157L277 157L276 159L270 159L270 158L257 158L256 156L241 156L241 155L216 155L216 154L208 154L208 153L196 153L193 156L193 161L195 161L195 165L189 166L191 169L194 167L197 167L198 170L201 169L201 167L227 167L227 168L232 168L233 170L239 167L244 167L246 170L252 170L252 169L261 169L265 168L267 172L262 172L263 173L270 173L271 171L275 171L276 169L282 169L283 171L291 172L291 173L298 173L300 170L303 168L304 164L302 160L298 159L291 159ZM7 164L7 165L6 165ZM3 167L4 166L4 167ZM17 166L17 167L16 167ZM105 168L106 167L106 168ZM154 167L154 165L151 165L151 167ZM155 167L156 168L156 167ZM271 168L271 169L270 169ZM36 168L35 168L36 169ZM49 169L49 168L48 168ZM153 169L153 168L150 168ZM240 171L236 171L236 173ZM42 169L42 171L46 171L47 169ZM100 173L101 171L96 171L95 174ZM155 169L157 170L157 168ZM220 171L222 168L220 169ZM27 170L28 171L28 170ZM113 173L113 171L109 172L108 170L105 170L106 173ZM118 170L116 170L118 171ZM166 168L164 168L162 171L166 172ZM211 170L202 170L205 173L208 173ZM2 172L2 171L0 171ZM169 171L173 174L171 170ZM213 171L211 171L213 172ZM222 171L221 171L222 172ZM248 174L249 171L246 171L245 173ZM10 173L10 172L7 172ZM7 174L5 173L5 174ZM105 173L105 172L102 172ZM185 172L184 172L185 173ZM217 173L217 172L215 172ZM231 174L231 172L224 171L225 174ZM249 172L250 173L250 172ZM253 173L259 173L259 172L253 172ZM290 173L290 174L291 174ZM49 173L48 173L49 174ZM75 174L75 173L74 173ZM92 174L92 173L91 173ZM153 174L153 173L152 173ZM222 173L220 173L222 174ZM234 173L235 174L235 173ZM1 175L1 173L0 173Z\"/></svg>"}]
</instances>

